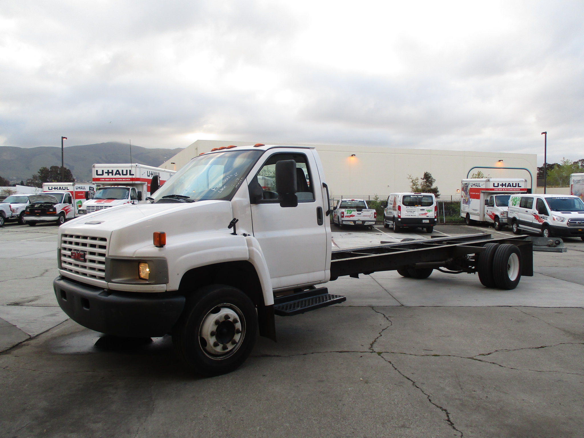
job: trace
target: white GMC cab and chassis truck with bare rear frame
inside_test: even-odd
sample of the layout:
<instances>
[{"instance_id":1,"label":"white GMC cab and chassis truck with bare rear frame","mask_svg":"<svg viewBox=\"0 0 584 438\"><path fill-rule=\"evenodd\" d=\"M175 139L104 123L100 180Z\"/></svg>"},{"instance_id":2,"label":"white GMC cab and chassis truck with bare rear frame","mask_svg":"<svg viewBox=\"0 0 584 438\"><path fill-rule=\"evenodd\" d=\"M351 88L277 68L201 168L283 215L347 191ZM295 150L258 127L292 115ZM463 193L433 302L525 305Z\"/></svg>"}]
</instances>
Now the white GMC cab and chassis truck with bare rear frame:
<instances>
[{"instance_id":1,"label":"white GMC cab and chassis truck with bare rear frame","mask_svg":"<svg viewBox=\"0 0 584 438\"><path fill-rule=\"evenodd\" d=\"M258 176L274 175L275 191ZM314 147L257 144L193 158L150 199L59 228L55 296L74 321L114 336L172 335L204 376L236 369L274 315L345 301L339 276L433 269L511 289L533 275L531 241L489 234L331 251L328 187ZM294 210L293 210L294 209ZM291 214L291 211L294 211Z\"/></svg>"}]
</instances>

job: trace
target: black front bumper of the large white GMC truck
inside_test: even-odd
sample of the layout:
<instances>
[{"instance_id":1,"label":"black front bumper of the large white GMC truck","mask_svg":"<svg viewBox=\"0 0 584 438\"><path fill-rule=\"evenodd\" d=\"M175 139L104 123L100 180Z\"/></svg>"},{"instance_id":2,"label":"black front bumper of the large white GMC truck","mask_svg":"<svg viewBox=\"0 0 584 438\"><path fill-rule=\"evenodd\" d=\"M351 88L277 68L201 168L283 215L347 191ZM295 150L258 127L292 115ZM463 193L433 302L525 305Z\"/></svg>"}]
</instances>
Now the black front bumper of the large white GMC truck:
<instances>
[{"instance_id":1,"label":"black front bumper of the large white GMC truck","mask_svg":"<svg viewBox=\"0 0 584 438\"><path fill-rule=\"evenodd\" d=\"M123 293L77 283L65 277L53 281L57 302L73 321L108 335L152 338L169 333L185 297L159 293Z\"/></svg>"}]
</instances>

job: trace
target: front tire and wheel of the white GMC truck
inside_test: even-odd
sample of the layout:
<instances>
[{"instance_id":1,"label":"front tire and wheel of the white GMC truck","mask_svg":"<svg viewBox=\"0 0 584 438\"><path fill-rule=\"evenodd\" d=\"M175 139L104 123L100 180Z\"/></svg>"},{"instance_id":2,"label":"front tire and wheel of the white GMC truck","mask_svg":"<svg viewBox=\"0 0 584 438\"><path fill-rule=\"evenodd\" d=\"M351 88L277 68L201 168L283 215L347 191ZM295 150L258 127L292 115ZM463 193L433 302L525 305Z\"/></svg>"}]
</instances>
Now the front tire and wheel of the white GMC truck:
<instances>
[{"instance_id":1,"label":"front tire and wheel of the white GMC truck","mask_svg":"<svg viewBox=\"0 0 584 438\"><path fill-rule=\"evenodd\" d=\"M212 284L195 291L172 332L180 359L201 376L230 373L244 363L256 339L258 314L238 288Z\"/></svg>"}]
</instances>

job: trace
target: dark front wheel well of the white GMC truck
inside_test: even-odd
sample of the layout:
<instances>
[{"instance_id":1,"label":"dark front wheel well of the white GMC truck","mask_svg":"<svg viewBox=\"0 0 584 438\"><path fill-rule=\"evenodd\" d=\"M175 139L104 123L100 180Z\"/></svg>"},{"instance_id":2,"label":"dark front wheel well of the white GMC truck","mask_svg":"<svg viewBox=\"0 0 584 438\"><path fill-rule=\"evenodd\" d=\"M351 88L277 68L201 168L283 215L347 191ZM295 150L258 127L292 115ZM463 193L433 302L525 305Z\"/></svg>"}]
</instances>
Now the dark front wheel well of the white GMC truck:
<instances>
[{"instance_id":1,"label":"dark front wheel well of the white GMC truck","mask_svg":"<svg viewBox=\"0 0 584 438\"><path fill-rule=\"evenodd\" d=\"M251 298L256 306L265 305L258 273L247 260L215 263L188 270L180 280L179 289L185 292L188 299L194 291L209 284L237 287Z\"/></svg>"}]
</instances>

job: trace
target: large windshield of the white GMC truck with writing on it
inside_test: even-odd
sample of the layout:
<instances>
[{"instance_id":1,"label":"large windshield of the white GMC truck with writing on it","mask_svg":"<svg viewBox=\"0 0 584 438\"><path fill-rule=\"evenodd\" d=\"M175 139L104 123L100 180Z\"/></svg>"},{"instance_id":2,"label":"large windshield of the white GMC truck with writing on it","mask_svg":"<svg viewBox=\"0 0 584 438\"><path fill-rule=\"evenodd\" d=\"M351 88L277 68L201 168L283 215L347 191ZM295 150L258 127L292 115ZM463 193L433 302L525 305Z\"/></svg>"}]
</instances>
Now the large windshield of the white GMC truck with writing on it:
<instances>
[{"instance_id":1,"label":"large windshield of the white GMC truck with writing on it","mask_svg":"<svg viewBox=\"0 0 584 438\"><path fill-rule=\"evenodd\" d=\"M189 202L231 199L262 154L247 150L200 155L176 172L153 198L156 202L180 202L181 197Z\"/></svg>"}]
</instances>

